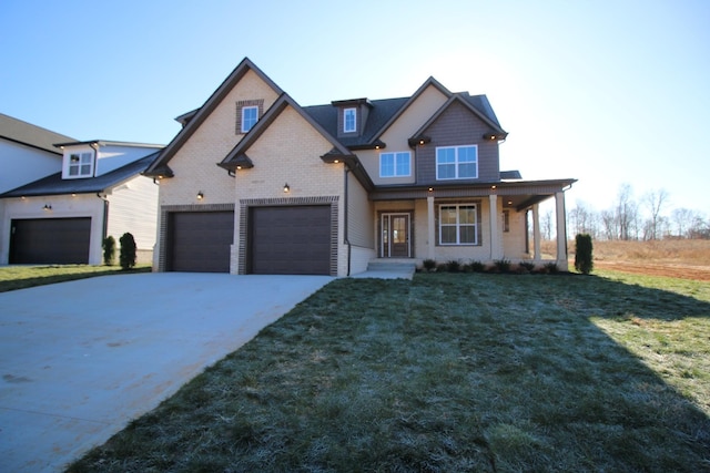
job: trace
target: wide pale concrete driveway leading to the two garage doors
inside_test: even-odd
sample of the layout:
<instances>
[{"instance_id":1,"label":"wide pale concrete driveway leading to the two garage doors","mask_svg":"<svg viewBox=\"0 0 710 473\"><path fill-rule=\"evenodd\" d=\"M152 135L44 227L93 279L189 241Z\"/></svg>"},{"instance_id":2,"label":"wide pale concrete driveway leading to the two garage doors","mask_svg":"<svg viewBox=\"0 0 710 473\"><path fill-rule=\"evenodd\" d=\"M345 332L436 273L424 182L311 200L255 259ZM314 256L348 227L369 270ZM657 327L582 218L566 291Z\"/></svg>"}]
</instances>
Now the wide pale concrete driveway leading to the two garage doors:
<instances>
[{"instance_id":1,"label":"wide pale concrete driveway leading to the two garage doors","mask_svg":"<svg viewBox=\"0 0 710 473\"><path fill-rule=\"evenodd\" d=\"M63 471L331 280L163 273L0 294L0 472Z\"/></svg>"}]
</instances>

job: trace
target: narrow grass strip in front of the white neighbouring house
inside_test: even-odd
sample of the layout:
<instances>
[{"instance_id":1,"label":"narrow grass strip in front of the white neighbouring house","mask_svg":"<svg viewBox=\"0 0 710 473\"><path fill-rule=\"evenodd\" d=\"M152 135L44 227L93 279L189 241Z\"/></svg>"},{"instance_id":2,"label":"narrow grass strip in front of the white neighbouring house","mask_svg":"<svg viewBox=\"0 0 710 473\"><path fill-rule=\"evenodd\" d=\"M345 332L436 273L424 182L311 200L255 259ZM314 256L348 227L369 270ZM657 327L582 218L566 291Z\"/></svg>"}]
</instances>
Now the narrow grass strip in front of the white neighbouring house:
<instances>
[{"instance_id":1,"label":"narrow grass strip in front of the white neighbouring house","mask_svg":"<svg viewBox=\"0 0 710 473\"><path fill-rule=\"evenodd\" d=\"M146 273L151 267L139 265L129 273ZM27 289L34 286L64 282L94 276L125 273L121 266L88 265L40 265L40 266L3 266L0 267L0 292Z\"/></svg>"}]
</instances>

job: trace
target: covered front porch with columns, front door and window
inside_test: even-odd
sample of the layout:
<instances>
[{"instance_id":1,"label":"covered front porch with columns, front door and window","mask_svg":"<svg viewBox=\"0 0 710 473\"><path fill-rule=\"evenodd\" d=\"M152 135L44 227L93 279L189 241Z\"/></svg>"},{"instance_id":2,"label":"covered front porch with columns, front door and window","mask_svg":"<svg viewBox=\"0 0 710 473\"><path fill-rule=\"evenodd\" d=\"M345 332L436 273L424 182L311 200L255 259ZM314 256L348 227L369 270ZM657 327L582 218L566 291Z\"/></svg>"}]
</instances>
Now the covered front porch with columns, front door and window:
<instances>
[{"instance_id":1,"label":"covered front porch with columns, front door and window","mask_svg":"<svg viewBox=\"0 0 710 473\"><path fill-rule=\"evenodd\" d=\"M574 182L518 181L378 189L371 195L377 219L376 260L415 260L417 264L425 259L484 264L525 260L536 266L555 263L559 270L567 271L565 191ZM541 253L540 229L540 203L550 198L555 200L554 230L561 236L557 238L552 259ZM469 228L456 227L456 233L468 235L462 236L460 241L443 240L444 209L470 215Z\"/></svg>"}]
</instances>

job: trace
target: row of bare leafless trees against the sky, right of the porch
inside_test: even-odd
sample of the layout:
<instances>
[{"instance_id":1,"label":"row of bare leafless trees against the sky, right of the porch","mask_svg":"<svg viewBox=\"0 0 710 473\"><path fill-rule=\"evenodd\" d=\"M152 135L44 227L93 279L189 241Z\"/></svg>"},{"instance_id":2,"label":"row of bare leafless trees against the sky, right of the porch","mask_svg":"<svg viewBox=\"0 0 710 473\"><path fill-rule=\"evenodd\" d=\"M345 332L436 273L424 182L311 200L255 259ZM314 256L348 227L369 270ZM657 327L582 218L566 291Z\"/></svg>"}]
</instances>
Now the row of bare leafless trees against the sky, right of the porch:
<instances>
[{"instance_id":1,"label":"row of bare leafless trees against the sky, right of the porch","mask_svg":"<svg viewBox=\"0 0 710 473\"><path fill-rule=\"evenodd\" d=\"M554 236L554 215L540 215L542 238ZM622 184L611 207L601 212L578 200L567 210L568 235L589 234L599 240L710 239L710 219L699 210L670 208L666 189L652 189L635 199L630 184Z\"/></svg>"}]
</instances>

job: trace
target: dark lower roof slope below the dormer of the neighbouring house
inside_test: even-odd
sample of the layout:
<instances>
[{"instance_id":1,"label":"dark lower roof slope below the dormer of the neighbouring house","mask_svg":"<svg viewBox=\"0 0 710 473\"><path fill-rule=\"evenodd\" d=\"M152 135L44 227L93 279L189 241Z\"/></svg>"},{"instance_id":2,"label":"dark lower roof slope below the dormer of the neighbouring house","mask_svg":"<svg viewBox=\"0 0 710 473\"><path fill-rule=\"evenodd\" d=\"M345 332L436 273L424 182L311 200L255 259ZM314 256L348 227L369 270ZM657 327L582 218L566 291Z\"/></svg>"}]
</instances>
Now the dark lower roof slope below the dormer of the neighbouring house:
<instances>
[{"instance_id":1,"label":"dark lower roof slope below the dormer of the neighbouring house","mask_svg":"<svg viewBox=\"0 0 710 473\"><path fill-rule=\"evenodd\" d=\"M109 191L112 187L141 174L150 166L159 152L150 154L133 163L119 167L99 177L81 179L62 179L62 173L52 174L33 183L0 194L3 197L32 197L41 195L64 194L95 194Z\"/></svg>"}]
</instances>

